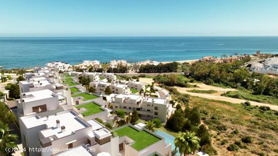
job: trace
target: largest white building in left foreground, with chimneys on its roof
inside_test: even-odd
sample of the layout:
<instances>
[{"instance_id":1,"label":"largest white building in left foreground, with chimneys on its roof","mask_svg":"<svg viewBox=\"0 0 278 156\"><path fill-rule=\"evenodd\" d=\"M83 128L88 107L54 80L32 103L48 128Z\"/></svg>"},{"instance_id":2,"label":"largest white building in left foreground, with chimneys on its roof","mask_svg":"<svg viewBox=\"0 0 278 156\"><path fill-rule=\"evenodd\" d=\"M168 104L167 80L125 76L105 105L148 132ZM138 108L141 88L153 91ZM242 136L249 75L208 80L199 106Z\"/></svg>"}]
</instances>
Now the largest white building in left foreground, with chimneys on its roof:
<instances>
[{"instance_id":1,"label":"largest white building in left foreground, with chimneys on its roof","mask_svg":"<svg viewBox=\"0 0 278 156\"><path fill-rule=\"evenodd\" d=\"M82 149L75 150L75 147L79 149L83 144L94 155L101 152L119 155L118 136L112 136L108 129L95 120L85 121L73 110L47 117L32 114L21 117L19 123L23 148L41 149L41 152L26 150L24 155L59 155L63 150L73 149L75 155L84 156L81 154L84 152Z\"/></svg>"}]
</instances>

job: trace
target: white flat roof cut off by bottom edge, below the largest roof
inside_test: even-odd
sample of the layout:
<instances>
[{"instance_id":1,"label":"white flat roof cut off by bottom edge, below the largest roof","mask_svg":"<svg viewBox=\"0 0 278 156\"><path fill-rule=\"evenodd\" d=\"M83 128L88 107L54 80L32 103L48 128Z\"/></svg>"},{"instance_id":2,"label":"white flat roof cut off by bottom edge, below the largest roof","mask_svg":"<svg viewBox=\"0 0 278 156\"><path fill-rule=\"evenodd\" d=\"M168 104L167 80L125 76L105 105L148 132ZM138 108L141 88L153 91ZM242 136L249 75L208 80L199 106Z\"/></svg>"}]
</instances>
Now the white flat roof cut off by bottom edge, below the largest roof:
<instances>
[{"instance_id":1,"label":"white flat roof cut off by bottom edge, below the largest roof","mask_svg":"<svg viewBox=\"0 0 278 156\"><path fill-rule=\"evenodd\" d=\"M92 156L93 154L90 153L84 146L78 146L74 148L70 148L65 152L58 153L55 156Z\"/></svg>"}]
</instances>

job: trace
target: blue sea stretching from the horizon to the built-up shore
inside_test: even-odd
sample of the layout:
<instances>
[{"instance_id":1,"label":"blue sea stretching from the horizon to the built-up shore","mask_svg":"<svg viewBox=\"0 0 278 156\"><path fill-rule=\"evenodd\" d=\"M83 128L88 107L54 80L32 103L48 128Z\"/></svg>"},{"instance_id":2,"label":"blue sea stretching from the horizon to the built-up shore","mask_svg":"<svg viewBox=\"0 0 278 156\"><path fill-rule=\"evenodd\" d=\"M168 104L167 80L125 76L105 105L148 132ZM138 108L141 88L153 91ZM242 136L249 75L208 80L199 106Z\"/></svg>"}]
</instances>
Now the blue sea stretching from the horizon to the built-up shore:
<instances>
[{"instance_id":1,"label":"blue sea stretching from the horizon to the built-up shore","mask_svg":"<svg viewBox=\"0 0 278 156\"><path fill-rule=\"evenodd\" d=\"M50 61L181 61L205 56L278 53L276 37L0 37L0 66L27 68Z\"/></svg>"}]
</instances>

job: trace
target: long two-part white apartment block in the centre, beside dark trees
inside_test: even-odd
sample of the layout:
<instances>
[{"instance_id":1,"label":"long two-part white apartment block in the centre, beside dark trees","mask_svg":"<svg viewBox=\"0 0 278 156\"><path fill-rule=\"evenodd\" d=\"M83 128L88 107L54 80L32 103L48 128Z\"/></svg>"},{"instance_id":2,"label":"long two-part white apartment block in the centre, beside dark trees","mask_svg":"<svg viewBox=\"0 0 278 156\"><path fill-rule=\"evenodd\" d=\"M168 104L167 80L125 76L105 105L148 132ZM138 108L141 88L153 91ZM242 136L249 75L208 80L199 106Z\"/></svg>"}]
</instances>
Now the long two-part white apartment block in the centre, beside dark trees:
<instances>
[{"instance_id":1,"label":"long two-part white apartment block in the centre, beside dark trees","mask_svg":"<svg viewBox=\"0 0 278 156\"><path fill-rule=\"evenodd\" d=\"M172 105L167 103L166 99L134 94L115 96L111 100L111 106L114 112L121 109L129 114L136 110L140 118L147 120L158 118L161 122L166 122L174 111Z\"/></svg>"}]
</instances>

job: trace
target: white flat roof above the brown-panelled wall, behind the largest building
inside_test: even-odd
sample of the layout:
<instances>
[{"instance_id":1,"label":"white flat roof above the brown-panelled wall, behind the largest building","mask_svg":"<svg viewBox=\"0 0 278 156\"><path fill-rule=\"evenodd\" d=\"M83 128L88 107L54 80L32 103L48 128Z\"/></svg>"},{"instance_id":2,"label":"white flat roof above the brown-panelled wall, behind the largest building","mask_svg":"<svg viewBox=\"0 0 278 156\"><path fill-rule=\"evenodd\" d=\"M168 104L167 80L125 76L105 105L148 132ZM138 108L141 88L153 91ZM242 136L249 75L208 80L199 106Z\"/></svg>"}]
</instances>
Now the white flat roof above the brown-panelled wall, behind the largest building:
<instances>
[{"instance_id":1,"label":"white flat roof above the brown-panelled wall, behind the largest building","mask_svg":"<svg viewBox=\"0 0 278 156\"><path fill-rule=\"evenodd\" d=\"M49 89L30 91L30 92L25 92L23 94L27 96L22 98L24 99L24 102L31 102L31 101L41 100L45 98L55 97L55 93Z\"/></svg>"}]
</instances>

